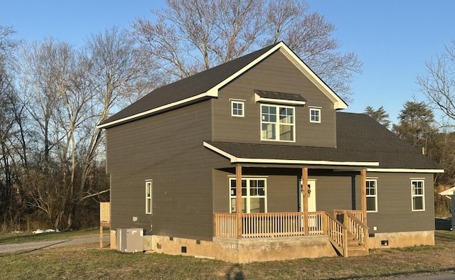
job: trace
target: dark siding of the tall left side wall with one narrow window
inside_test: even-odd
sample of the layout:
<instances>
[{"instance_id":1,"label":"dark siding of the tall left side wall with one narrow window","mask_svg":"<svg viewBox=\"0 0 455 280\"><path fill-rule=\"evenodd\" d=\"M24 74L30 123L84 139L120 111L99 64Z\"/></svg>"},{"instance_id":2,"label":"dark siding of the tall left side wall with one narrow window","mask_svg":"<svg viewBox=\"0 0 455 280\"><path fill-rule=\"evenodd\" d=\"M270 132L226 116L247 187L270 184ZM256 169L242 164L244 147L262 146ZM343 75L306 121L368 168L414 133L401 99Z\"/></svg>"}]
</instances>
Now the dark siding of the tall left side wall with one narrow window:
<instances>
[{"instance_id":1,"label":"dark siding of the tall left side wall with one narrow window","mask_svg":"<svg viewBox=\"0 0 455 280\"><path fill-rule=\"evenodd\" d=\"M107 129L112 228L155 235L212 238L212 167L225 159L210 140L211 102L201 102ZM153 215L145 214L145 181L153 180ZM137 217L137 222L133 222Z\"/></svg>"}]
</instances>

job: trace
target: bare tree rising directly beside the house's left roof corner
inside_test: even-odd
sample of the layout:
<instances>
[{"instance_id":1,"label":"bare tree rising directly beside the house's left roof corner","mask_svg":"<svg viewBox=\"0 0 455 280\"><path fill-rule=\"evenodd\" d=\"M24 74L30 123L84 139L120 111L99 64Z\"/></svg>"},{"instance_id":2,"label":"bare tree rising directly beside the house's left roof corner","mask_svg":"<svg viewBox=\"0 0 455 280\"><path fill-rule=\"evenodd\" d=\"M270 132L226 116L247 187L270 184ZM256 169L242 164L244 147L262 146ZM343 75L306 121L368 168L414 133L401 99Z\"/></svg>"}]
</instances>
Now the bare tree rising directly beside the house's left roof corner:
<instances>
[{"instance_id":1,"label":"bare tree rising directly beside the house's left roof corner","mask_svg":"<svg viewBox=\"0 0 455 280\"><path fill-rule=\"evenodd\" d=\"M124 31L109 28L105 33L92 35L87 40L85 56L80 58L84 65L80 75L87 75L82 81L90 83L87 94L90 97L90 118L85 119L85 151L82 154L82 171L77 199L92 198L96 193L108 189L96 190L88 179L104 155L104 134L97 128L107 119L112 111L122 108L132 100L156 87L153 68L150 61L134 42L129 40ZM79 83L80 85L86 85ZM85 104L87 102L82 102Z\"/></svg>"}]
</instances>

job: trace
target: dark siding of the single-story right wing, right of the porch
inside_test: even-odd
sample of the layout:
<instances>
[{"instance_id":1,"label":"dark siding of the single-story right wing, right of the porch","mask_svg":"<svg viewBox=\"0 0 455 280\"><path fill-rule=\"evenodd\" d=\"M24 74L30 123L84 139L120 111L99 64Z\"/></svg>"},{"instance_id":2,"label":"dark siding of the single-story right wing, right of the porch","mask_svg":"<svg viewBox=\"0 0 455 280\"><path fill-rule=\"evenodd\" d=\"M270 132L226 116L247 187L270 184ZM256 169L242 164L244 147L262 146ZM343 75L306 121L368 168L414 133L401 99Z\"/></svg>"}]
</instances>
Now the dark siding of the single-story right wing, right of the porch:
<instances>
[{"instance_id":1,"label":"dark siding of the single-story right wing, right of the porch","mask_svg":"<svg viewBox=\"0 0 455 280\"><path fill-rule=\"evenodd\" d=\"M434 230L432 174L368 173L378 178L378 212L368 212L370 232ZM425 179L425 210L412 211L411 179ZM373 227L378 230L374 231Z\"/></svg>"}]
</instances>

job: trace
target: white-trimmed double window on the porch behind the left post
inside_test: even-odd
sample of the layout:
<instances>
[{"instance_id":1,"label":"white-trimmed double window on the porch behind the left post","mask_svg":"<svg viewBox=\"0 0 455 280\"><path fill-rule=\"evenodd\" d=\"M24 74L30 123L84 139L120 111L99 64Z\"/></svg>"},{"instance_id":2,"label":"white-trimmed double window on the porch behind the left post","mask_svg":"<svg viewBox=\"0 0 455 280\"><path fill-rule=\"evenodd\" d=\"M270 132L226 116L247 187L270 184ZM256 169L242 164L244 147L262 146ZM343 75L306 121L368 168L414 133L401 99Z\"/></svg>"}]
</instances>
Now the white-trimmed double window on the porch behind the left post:
<instances>
[{"instance_id":1,"label":"white-trimmed double window on the porch behind the left post","mask_svg":"<svg viewBox=\"0 0 455 280\"><path fill-rule=\"evenodd\" d=\"M236 179L229 178L230 185L230 212L235 213L237 188ZM267 179L242 178L242 212L264 213L267 212Z\"/></svg>"}]
</instances>

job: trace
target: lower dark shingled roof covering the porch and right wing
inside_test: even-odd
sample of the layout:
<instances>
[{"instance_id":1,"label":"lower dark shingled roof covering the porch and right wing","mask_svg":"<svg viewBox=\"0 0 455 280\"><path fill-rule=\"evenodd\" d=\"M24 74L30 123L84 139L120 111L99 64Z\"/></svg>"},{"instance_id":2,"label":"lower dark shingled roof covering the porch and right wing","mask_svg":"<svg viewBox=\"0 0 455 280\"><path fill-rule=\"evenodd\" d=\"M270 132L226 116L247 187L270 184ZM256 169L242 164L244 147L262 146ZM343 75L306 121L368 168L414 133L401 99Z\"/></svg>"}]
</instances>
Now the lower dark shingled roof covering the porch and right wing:
<instances>
[{"instance_id":1,"label":"lower dark shingled roof covering the porch and right wing","mask_svg":"<svg viewBox=\"0 0 455 280\"><path fill-rule=\"evenodd\" d=\"M439 164L422 155L371 117L344 112L337 112L336 117L336 148L206 142L237 158L379 162L379 166L373 168L442 170Z\"/></svg>"}]
</instances>

